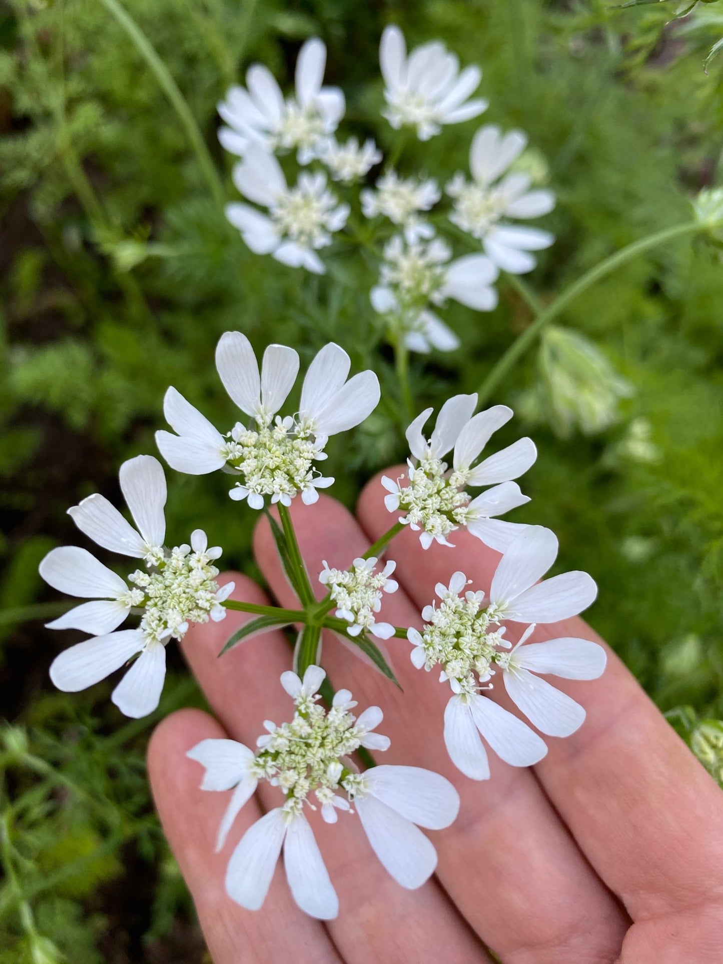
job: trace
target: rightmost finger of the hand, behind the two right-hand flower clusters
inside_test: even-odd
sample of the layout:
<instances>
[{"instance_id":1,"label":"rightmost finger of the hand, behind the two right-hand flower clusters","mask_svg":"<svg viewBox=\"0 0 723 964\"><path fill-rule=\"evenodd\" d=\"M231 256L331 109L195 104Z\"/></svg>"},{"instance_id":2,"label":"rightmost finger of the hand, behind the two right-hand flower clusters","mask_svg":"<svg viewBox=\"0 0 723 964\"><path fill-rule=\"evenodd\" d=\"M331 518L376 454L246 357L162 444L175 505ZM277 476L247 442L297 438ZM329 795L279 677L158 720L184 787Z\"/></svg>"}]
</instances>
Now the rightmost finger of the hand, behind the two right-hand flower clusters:
<instances>
[{"instance_id":1,"label":"rightmost finger of the hand, behind the two right-hand flower clusters","mask_svg":"<svg viewBox=\"0 0 723 964\"><path fill-rule=\"evenodd\" d=\"M379 478L362 493L360 519L375 538L388 526ZM400 577L417 605L452 569L489 589L499 556L466 532L455 549L424 551L414 533L394 543ZM448 554L451 553L451 554ZM581 619L538 627L538 639L599 640ZM580 730L549 739L536 772L557 811L608 886L636 921L679 913L723 897L723 797L628 669L608 651L603 676L554 684L587 710Z\"/></svg>"}]
</instances>

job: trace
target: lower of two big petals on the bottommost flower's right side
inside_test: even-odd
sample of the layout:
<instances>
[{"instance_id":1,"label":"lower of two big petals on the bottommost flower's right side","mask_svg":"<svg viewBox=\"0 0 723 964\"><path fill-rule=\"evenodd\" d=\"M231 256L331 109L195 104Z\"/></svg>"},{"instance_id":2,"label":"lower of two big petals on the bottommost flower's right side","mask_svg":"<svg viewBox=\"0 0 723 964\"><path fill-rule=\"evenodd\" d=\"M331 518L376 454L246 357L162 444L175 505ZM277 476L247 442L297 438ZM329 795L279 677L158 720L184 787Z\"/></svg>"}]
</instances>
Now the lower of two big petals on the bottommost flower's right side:
<instances>
[{"instance_id":1,"label":"lower of two big petals on the bottommost flower's right side","mask_svg":"<svg viewBox=\"0 0 723 964\"><path fill-rule=\"evenodd\" d=\"M437 851L421 830L374 796L358 797L355 808L388 873L408 890L421 887L437 867Z\"/></svg>"}]
</instances>

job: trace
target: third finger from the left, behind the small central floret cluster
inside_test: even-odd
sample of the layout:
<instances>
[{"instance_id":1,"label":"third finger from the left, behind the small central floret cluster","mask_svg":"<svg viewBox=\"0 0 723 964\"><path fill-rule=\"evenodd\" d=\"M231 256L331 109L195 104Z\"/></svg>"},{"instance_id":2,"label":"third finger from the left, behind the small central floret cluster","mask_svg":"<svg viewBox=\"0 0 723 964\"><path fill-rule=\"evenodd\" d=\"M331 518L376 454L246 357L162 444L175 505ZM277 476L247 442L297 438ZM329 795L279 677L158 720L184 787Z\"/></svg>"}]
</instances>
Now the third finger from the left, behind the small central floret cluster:
<instances>
[{"instance_id":1,"label":"third finger from the left, behind the small central floret cluster","mask_svg":"<svg viewBox=\"0 0 723 964\"><path fill-rule=\"evenodd\" d=\"M293 515L314 581L323 559L345 569L369 545L358 522L329 497L299 507ZM288 584L265 522L256 528L254 549L270 585L289 603ZM395 549L389 553L392 559ZM413 579L418 577L417 566ZM324 587L317 586L321 595ZM418 623L419 615L400 590L385 596L380 618L410 626ZM532 774L492 761L492 781L477 784L463 777L449 761L442 738L448 696L414 669L406 640L391 640L389 646L396 647L394 667L403 693L334 637L324 644L323 662L336 686L346 686L351 677L362 705L379 703L385 710L384 732L391 737L385 763L429 767L460 791L460 817L440 835L437 872L461 913L506 964L556 962L564 954L575 960L613 960L627 922Z\"/></svg>"}]
</instances>

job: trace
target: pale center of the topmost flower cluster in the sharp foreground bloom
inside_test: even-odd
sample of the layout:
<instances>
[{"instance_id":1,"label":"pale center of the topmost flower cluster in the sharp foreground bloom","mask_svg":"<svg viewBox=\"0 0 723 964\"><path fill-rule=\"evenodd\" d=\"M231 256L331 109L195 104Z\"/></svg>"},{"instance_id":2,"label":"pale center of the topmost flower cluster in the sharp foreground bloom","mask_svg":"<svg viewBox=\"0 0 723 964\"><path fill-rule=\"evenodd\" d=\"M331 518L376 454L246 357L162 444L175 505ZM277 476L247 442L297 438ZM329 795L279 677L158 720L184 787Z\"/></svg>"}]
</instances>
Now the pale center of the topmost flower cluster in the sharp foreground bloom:
<instances>
[{"instance_id":1,"label":"pale center of the topmost flower cluster in the sharp foreground bloom","mask_svg":"<svg viewBox=\"0 0 723 964\"><path fill-rule=\"evenodd\" d=\"M326 458L326 439L317 439L292 418L247 429L240 422L228 433L228 466L243 476L256 495L292 497L311 484L314 461Z\"/></svg>"}]
</instances>

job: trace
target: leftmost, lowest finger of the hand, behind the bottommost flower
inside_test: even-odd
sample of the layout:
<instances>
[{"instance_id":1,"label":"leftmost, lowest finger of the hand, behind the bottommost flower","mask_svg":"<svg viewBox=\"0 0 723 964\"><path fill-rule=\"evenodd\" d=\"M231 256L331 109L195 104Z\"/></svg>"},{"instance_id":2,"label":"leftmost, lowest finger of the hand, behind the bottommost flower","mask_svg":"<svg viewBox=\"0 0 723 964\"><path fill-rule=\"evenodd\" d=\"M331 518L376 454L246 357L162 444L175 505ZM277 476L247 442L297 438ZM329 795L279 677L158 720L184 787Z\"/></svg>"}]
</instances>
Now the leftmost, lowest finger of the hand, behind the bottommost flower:
<instances>
[{"instance_id":1,"label":"leftmost, lowest finger of the hand, behind the bottommost flower","mask_svg":"<svg viewBox=\"0 0 723 964\"><path fill-rule=\"evenodd\" d=\"M203 936L215 964L268 964L294 960L338 962L321 924L296 907L280 880L257 914L234 904L224 890L225 854L214 853L227 793L200 790L199 764L186 752L201 739L226 732L200 710L179 710L160 723L148 745L148 775L163 829L194 898ZM261 816L250 800L232 831L234 843Z\"/></svg>"}]
</instances>

